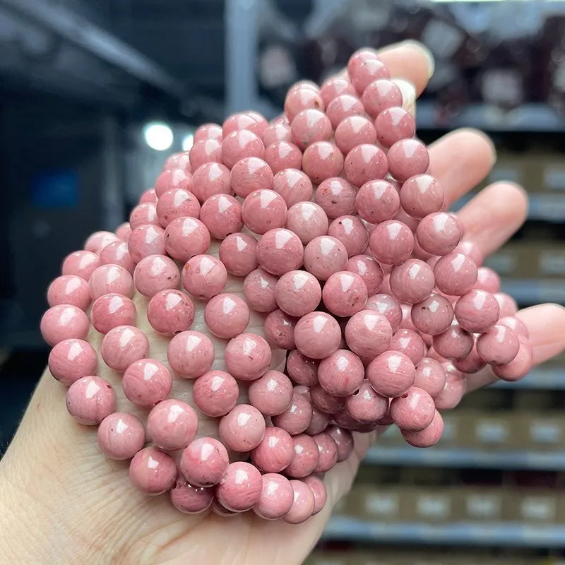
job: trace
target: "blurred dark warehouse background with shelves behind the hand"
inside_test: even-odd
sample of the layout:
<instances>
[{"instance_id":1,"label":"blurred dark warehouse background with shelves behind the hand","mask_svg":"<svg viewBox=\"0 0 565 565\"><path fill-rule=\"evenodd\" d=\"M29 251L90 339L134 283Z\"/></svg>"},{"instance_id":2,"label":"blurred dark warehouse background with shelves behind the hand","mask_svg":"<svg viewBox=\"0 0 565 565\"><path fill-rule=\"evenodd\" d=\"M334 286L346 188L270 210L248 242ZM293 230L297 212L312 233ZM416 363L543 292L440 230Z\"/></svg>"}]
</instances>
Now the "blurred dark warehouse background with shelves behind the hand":
<instances>
[{"instance_id":1,"label":"blurred dark warehouse background with shelves behind the hand","mask_svg":"<svg viewBox=\"0 0 565 565\"><path fill-rule=\"evenodd\" d=\"M484 129L488 182L530 192L490 259L504 290L565 304L565 0L0 0L3 447L47 359L37 328L62 258L124 221L199 124L274 117L299 78L407 39L436 57L420 137ZM565 563L564 367L470 396L425 453L383 438L311 563Z\"/></svg>"}]
</instances>

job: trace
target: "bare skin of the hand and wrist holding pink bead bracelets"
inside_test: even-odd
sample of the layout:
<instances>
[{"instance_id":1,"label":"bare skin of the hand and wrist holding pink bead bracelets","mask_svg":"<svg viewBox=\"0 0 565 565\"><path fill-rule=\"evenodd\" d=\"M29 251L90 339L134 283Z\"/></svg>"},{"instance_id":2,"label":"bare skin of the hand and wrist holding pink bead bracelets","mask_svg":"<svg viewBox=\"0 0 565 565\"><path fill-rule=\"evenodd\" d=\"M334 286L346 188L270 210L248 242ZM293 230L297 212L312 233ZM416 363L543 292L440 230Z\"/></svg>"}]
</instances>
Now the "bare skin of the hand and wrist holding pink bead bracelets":
<instances>
[{"instance_id":1,"label":"bare skin of the hand and wrist holding pink bead bracelets","mask_svg":"<svg viewBox=\"0 0 565 565\"><path fill-rule=\"evenodd\" d=\"M427 52L413 42L383 49L381 59L391 76L409 81L417 94L433 72ZM413 98L405 94L407 98L405 107L415 112ZM486 177L496 159L489 139L472 129L449 133L429 152L431 172L446 189L449 203ZM459 217L466 237L490 254L518 230L527 208L520 186L496 182L475 196ZM225 292L242 295L241 284L232 280ZM134 301L143 327L146 300L136 295ZM535 364L564 349L564 308L542 304L518 316L528 326ZM193 329L205 331L202 319L202 312L196 312ZM260 331L260 323L260 317L252 316L248 331ZM164 361L167 340L152 333L151 341L152 355ZM220 368L218 347L216 355L215 367ZM119 384L108 371L100 376ZM470 376L469 388L493 380L492 372L483 369ZM117 396L122 394L121 387L115 390ZM188 516L176 511L166 496L145 496L131 487L127 463L102 456L95 429L76 424L66 414L65 391L45 371L0 461L0 554L6 563L253 565L268 559L273 565L300 564L319 539L332 507L350 489L359 461L375 439L375 434L354 434L352 457L326 474L328 504L302 525L263 521L253 512L229 519L213 513ZM190 402L190 393L181 398ZM214 434L213 422L201 422L199 433Z\"/></svg>"}]
</instances>

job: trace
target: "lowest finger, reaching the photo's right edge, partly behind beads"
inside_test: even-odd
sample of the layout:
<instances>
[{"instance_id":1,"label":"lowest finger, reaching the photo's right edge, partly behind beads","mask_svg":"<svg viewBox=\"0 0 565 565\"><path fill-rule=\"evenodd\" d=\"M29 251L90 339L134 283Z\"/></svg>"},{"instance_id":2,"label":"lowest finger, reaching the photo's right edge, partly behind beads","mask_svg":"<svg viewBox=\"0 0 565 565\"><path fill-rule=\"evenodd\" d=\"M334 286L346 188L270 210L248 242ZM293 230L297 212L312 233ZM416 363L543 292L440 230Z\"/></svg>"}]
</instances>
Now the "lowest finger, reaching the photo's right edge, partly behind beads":
<instances>
[{"instance_id":1,"label":"lowest finger, reaching the photo's right edge, partly behind beads","mask_svg":"<svg viewBox=\"0 0 565 565\"><path fill-rule=\"evenodd\" d=\"M565 308L559 304L538 304L525 308L516 314L530 332L530 343L533 346L533 364L539 365L559 355L565 349ZM526 377L528 378L528 377ZM467 391L494 383L498 377L490 367L467 377Z\"/></svg>"}]
</instances>

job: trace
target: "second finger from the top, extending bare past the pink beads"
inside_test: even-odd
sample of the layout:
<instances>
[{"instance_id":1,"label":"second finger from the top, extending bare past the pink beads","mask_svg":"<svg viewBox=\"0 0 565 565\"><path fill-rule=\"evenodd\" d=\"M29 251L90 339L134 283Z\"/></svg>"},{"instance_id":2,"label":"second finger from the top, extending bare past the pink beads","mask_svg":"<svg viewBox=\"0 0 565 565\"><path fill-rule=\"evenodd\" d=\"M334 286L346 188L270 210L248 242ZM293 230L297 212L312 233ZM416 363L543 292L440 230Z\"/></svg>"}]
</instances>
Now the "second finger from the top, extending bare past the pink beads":
<instances>
[{"instance_id":1,"label":"second finger from the top, extending bare past the pink beads","mask_svg":"<svg viewBox=\"0 0 565 565\"><path fill-rule=\"evenodd\" d=\"M496 161L492 141L476 129L452 131L428 150L429 172L444 187L446 207L474 189Z\"/></svg>"}]
</instances>

